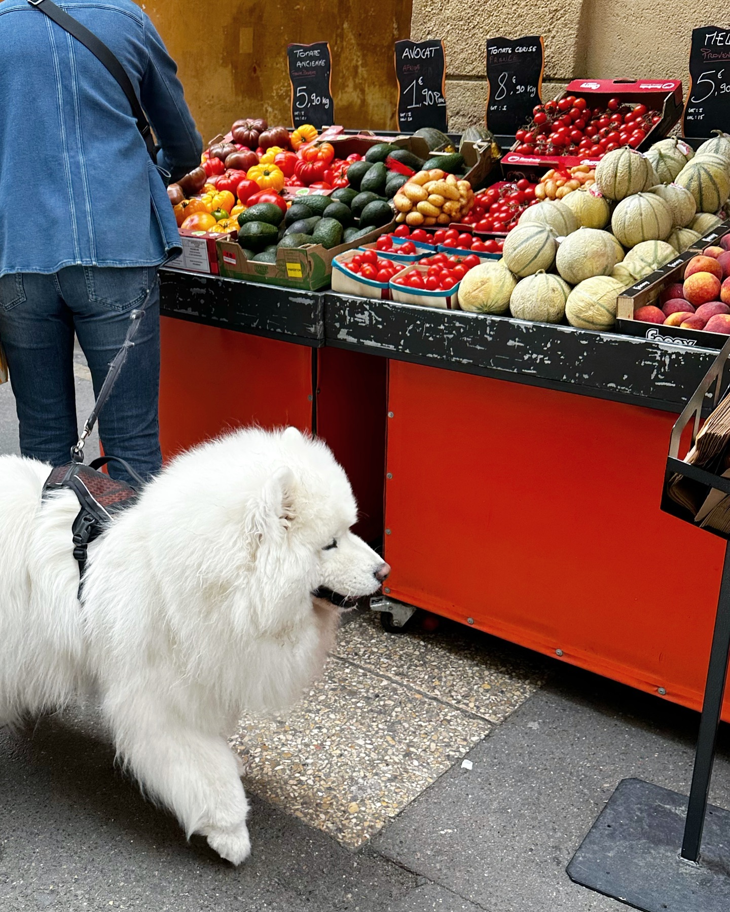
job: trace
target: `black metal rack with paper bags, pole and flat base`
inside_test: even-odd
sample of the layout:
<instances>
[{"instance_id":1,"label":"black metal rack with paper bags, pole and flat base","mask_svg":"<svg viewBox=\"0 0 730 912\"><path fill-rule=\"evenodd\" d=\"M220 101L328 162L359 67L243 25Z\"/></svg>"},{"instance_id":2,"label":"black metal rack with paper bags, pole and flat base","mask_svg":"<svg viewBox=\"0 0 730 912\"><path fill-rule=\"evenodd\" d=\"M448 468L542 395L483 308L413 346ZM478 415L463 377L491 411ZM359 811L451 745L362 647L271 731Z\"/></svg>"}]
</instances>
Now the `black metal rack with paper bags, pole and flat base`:
<instances>
[{"instance_id":1,"label":"black metal rack with paper bags, pole and flat base","mask_svg":"<svg viewBox=\"0 0 730 912\"><path fill-rule=\"evenodd\" d=\"M685 429L693 422L694 446L708 396L715 406L721 398L728 357L730 341L672 430L662 510L688 523L695 524L694 514L669 495L675 476L699 482L708 493L714 489L730 494L730 479L680 459ZM728 544L689 800L649 782L623 780L568 865L568 875L577 883L643 912L727 912L730 908L730 812L708 805L730 658L730 534L706 531Z\"/></svg>"}]
</instances>

